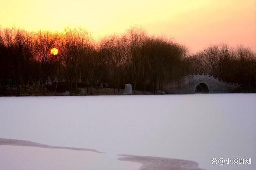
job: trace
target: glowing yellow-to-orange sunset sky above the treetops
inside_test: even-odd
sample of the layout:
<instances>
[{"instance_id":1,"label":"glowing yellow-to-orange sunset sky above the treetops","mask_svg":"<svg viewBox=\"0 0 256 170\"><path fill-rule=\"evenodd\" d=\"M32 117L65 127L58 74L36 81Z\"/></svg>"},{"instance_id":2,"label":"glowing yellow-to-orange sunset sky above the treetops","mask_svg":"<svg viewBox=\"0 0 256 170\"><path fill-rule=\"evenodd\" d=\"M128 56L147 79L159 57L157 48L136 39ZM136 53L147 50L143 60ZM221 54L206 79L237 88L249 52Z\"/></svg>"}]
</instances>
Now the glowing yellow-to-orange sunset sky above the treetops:
<instances>
[{"instance_id":1,"label":"glowing yellow-to-orange sunset sky above the treetops","mask_svg":"<svg viewBox=\"0 0 256 170\"><path fill-rule=\"evenodd\" d=\"M30 31L85 27L98 39L131 26L195 52L210 44L256 51L256 0L0 0L0 26Z\"/></svg>"}]
</instances>

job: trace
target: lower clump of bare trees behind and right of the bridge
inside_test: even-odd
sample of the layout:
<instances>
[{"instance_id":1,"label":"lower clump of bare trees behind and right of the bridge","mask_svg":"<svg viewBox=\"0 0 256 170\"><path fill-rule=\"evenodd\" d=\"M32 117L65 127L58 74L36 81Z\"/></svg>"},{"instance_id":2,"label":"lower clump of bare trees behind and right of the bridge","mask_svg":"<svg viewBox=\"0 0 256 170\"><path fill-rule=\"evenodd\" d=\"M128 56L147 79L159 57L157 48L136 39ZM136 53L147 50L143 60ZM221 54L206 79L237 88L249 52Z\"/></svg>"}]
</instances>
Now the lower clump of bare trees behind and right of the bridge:
<instances>
[{"instance_id":1,"label":"lower clump of bare trees behind and right of the bridge","mask_svg":"<svg viewBox=\"0 0 256 170\"><path fill-rule=\"evenodd\" d=\"M209 73L222 81L240 84L241 92L256 91L256 53L242 45L210 45L184 58L188 73Z\"/></svg>"}]
</instances>

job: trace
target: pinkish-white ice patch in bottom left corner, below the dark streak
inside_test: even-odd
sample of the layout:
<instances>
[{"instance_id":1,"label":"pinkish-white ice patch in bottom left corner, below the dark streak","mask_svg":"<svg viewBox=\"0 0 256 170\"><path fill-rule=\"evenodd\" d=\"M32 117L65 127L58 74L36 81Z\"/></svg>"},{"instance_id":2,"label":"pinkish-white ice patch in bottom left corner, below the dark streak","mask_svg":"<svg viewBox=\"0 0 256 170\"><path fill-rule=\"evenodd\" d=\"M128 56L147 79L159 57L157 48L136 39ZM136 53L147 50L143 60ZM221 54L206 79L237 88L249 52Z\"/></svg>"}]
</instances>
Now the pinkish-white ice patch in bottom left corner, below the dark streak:
<instances>
[{"instance_id":1,"label":"pinkish-white ice patch in bottom left corner, below the dark streak","mask_svg":"<svg viewBox=\"0 0 256 170\"><path fill-rule=\"evenodd\" d=\"M84 150L0 146L0 169L4 170L127 170L141 164L119 161L114 154Z\"/></svg>"}]
</instances>

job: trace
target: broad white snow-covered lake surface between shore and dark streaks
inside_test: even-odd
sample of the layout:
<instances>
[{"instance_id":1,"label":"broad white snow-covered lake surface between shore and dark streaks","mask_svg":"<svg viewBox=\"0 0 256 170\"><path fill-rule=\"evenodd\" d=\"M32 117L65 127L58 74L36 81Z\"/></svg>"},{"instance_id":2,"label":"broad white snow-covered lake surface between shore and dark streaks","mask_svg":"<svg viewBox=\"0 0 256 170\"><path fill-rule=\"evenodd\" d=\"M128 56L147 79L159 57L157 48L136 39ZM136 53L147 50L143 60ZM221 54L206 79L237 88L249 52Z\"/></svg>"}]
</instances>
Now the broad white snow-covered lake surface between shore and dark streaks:
<instances>
[{"instance_id":1,"label":"broad white snow-covered lake surface between shore and dark streaks","mask_svg":"<svg viewBox=\"0 0 256 170\"><path fill-rule=\"evenodd\" d=\"M256 169L256 94L0 97L0 138Z\"/></svg>"}]
</instances>

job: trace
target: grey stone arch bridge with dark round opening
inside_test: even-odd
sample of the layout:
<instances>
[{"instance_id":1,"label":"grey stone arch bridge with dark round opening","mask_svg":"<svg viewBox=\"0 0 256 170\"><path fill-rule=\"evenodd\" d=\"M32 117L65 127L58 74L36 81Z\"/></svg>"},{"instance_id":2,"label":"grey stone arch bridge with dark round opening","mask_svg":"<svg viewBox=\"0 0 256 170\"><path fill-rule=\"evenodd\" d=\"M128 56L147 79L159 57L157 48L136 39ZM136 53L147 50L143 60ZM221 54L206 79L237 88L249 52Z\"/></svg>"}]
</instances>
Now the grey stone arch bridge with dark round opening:
<instances>
[{"instance_id":1,"label":"grey stone arch bridge with dark round opening","mask_svg":"<svg viewBox=\"0 0 256 170\"><path fill-rule=\"evenodd\" d=\"M213 75L187 75L164 86L167 93L231 93L240 85L219 81Z\"/></svg>"}]
</instances>

